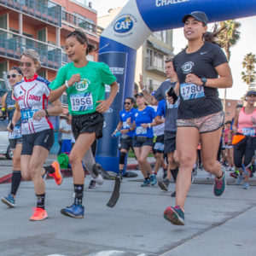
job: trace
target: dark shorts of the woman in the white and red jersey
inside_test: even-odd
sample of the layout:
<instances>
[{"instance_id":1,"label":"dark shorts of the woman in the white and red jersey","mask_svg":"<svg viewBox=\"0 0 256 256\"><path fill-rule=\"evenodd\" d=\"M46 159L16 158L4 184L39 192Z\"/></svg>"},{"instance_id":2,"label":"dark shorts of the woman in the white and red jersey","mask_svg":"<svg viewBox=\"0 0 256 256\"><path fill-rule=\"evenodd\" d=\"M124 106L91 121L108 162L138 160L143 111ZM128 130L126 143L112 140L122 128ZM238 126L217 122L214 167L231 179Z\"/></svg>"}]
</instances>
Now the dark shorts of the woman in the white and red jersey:
<instances>
[{"instance_id":1,"label":"dark shorts of the woman in the white and red jersey","mask_svg":"<svg viewBox=\"0 0 256 256\"><path fill-rule=\"evenodd\" d=\"M34 146L41 146L49 151L54 142L55 137L53 129L22 135L21 154L32 155Z\"/></svg>"}]
</instances>

